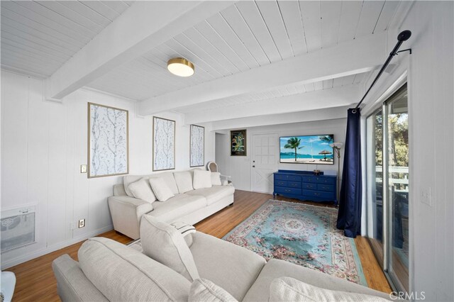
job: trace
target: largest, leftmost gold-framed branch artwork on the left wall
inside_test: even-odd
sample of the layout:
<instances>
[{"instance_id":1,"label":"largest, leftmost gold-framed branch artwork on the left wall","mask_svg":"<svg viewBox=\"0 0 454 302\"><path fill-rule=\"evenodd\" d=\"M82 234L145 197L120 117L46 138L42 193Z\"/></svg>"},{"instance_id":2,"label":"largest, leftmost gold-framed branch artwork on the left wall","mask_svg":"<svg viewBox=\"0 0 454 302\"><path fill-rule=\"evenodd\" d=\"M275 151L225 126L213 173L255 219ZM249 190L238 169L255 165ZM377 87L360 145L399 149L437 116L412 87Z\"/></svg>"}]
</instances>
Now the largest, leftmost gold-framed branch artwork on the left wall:
<instances>
[{"instance_id":1,"label":"largest, leftmost gold-framed branch artwork on the left wall","mask_svg":"<svg viewBox=\"0 0 454 302\"><path fill-rule=\"evenodd\" d=\"M88 178L129 173L128 111L88 103Z\"/></svg>"}]
</instances>

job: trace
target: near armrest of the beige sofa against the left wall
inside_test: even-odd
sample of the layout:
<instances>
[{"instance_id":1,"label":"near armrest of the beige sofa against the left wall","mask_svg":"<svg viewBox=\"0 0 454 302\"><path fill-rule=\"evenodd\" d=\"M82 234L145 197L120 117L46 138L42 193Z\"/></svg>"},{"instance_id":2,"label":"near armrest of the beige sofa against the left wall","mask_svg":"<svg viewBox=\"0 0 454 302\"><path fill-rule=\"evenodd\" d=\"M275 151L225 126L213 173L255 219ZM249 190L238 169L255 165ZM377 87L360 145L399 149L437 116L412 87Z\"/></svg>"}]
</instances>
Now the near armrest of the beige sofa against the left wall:
<instances>
[{"instance_id":1,"label":"near armrest of the beige sofa against the left wall","mask_svg":"<svg viewBox=\"0 0 454 302\"><path fill-rule=\"evenodd\" d=\"M111 196L108 200L114 229L128 237L138 239L140 218L143 214L153 211L152 204L130 196Z\"/></svg>"}]
</instances>

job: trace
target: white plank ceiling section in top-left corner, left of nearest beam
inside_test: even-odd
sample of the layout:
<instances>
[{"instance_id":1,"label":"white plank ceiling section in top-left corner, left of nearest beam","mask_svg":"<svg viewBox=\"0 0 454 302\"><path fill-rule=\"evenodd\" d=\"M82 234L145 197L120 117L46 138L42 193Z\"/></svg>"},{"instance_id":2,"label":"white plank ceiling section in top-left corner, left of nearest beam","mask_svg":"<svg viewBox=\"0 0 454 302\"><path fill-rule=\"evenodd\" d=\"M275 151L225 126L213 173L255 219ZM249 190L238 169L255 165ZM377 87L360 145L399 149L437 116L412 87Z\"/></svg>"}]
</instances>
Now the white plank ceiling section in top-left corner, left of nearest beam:
<instances>
[{"instance_id":1,"label":"white plank ceiling section in top-left corner, left of nearest beam","mask_svg":"<svg viewBox=\"0 0 454 302\"><path fill-rule=\"evenodd\" d=\"M49 77L133 1L1 1L1 67Z\"/></svg>"}]
</instances>

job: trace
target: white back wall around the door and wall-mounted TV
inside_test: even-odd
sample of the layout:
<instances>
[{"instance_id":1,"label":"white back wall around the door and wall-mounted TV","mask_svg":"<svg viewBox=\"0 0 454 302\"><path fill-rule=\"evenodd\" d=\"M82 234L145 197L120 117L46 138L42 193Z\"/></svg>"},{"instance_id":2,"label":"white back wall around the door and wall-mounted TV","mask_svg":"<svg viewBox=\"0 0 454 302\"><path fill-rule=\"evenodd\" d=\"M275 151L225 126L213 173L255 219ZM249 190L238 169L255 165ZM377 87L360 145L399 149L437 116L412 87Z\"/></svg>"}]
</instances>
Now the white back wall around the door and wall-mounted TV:
<instances>
[{"instance_id":1,"label":"white back wall around the door and wall-mounted TV","mask_svg":"<svg viewBox=\"0 0 454 302\"><path fill-rule=\"evenodd\" d=\"M347 111L345 111L347 116ZM226 167L221 167L225 170L227 175L232 177L233 185L236 189L251 191L251 162L252 162L252 137L254 134L264 133L277 133L277 136L290 136L290 135L318 135L318 134L333 134L336 142L345 142L345 130L347 125L346 118L339 118L336 120L327 121L314 121L305 123L290 123L283 125L269 125L260 127L246 128L247 135L247 156L231 156L230 155L230 131L226 131L223 135L225 147L223 148L224 158L226 158ZM277 144L277 154L279 154L279 144ZM218 150L216 150L217 154ZM334 156L333 165L315 165L315 164L281 164L279 157L277 157L277 169L289 170L306 170L312 171L316 167L326 172L326 174L336 174L338 171L337 157ZM343 152L341 150L341 174L343 167ZM270 192L272 193L272 192Z\"/></svg>"}]
</instances>

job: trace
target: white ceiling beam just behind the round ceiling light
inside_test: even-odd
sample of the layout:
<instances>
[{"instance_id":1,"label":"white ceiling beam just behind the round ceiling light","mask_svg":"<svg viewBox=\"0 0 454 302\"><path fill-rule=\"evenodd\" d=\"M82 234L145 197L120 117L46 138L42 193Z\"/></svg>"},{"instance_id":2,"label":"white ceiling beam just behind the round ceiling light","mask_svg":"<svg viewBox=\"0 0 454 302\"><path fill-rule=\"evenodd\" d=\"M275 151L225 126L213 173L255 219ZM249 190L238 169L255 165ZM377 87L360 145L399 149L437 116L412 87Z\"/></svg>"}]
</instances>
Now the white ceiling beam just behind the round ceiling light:
<instances>
[{"instance_id":1,"label":"white ceiling beam just behind the round ceiling light","mask_svg":"<svg viewBox=\"0 0 454 302\"><path fill-rule=\"evenodd\" d=\"M367 35L335 47L155 96L140 101L139 111L145 116L286 84L306 84L368 72L379 66L385 57L386 33Z\"/></svg>"}]
</instances>

